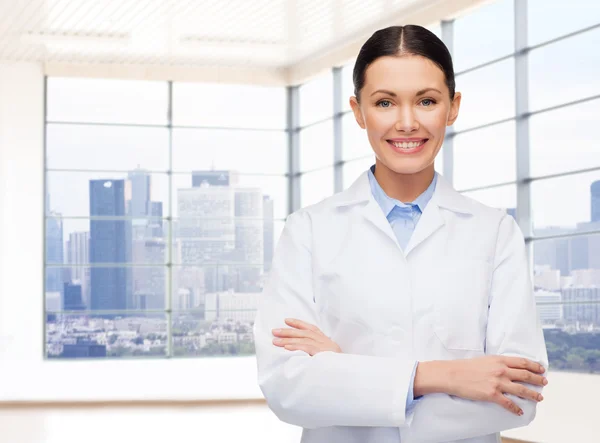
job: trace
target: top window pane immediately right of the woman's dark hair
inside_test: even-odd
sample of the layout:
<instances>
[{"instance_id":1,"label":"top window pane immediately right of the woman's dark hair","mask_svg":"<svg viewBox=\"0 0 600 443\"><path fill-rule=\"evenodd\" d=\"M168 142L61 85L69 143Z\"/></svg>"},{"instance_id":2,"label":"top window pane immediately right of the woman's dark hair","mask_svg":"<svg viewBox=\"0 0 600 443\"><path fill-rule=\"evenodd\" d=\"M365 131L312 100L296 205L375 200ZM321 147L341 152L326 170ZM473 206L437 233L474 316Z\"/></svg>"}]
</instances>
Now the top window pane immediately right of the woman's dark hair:
<instances>
[{"instance_id":1,"label":"top window pane immediately right of the woman's dark hair","mask_svg":"<svg viewBox=\"0 0 600 443\"><path fill-rule=\"evenodd\" d=\"M514 52L513 3L494 1L454 22L453 58L457 72Z\"/></svg>"}]
</instances>

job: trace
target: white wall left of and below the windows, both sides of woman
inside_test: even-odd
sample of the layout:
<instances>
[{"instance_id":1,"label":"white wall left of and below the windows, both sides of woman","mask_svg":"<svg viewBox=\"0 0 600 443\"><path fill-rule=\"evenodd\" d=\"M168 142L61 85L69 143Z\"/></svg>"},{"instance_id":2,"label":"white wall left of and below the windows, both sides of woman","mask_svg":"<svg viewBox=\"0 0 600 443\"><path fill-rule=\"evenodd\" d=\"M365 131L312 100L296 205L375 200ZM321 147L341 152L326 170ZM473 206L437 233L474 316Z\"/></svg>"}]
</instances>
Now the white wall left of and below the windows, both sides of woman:
<instances>
[{"instance_id":1,"label":"white wall left of and below the windows, both sides of woman","mask_svg":"<svg viewBox=\"0 0 600 443\"><path fill-rule=\"evenodd\" d=\"M0 402L261 398L251 357L43 360L43 108L42 68L0 64ZM549 379L534 424L507 436L597 438L600 376Z\"/></svg>"}]
</instances>

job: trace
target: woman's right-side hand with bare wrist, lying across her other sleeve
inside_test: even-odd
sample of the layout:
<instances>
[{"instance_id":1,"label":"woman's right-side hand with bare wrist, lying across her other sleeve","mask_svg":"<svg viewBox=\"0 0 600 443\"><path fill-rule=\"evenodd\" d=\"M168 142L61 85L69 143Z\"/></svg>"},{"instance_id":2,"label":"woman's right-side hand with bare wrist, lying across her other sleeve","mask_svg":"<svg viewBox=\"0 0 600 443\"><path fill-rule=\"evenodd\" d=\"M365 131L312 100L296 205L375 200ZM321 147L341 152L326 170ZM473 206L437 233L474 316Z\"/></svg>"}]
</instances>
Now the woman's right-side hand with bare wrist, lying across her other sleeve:
<instances>
[{"instance_id":1,"label":"woman's right-side hand with bare wrist, lying across her other sleeve","mask_svg":"<svg viewBox=\"0 0 600 443\"><path fill-rule=\"evenodd\" d=\"M428 363L433 365L428 366ZM421 366L423 366L422 373L419 377ZM433 375L431 371L438 372L438 375ZM426 379L437 378L438 386L443 386L441 391L446 394L469 400L497 403L517 415L522 415L521 408L504 394L512 394L535 402L542 401L544 398L541 394L518 382L545 386L548 380L541 375L544 372L543 366L519 357L492 355L465 360L424 362L419 363L417 367L415 396L426 394L428 390L432 392L425 386ZM434 391L440 392L436 389Z\"/></svg>"}]
</instances>

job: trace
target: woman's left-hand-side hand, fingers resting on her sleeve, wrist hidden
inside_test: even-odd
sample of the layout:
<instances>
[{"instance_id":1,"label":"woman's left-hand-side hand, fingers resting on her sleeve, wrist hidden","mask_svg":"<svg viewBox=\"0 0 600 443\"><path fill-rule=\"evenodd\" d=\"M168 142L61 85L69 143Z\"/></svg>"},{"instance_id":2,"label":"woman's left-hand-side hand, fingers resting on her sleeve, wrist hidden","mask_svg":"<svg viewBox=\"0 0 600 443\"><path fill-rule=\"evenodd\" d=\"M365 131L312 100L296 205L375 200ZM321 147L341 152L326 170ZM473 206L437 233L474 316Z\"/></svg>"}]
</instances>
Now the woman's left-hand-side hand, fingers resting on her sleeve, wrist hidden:
<instances>
[{"instance_id":1,"label":"woman's left-hand-side hand, fingers resting on her sleeve, wrist hidden","mask_svg":"<svg viewBox=\"0 0 600 443\"><path fill-rule=\"evenodd\" d=\"M310 323L287 318L285 324L292 329L273 329L273 344L288 351L304 351L313 356L319 352L331 351L341 353L340 347L323 332Z\"/></svg>"}]
</instances>

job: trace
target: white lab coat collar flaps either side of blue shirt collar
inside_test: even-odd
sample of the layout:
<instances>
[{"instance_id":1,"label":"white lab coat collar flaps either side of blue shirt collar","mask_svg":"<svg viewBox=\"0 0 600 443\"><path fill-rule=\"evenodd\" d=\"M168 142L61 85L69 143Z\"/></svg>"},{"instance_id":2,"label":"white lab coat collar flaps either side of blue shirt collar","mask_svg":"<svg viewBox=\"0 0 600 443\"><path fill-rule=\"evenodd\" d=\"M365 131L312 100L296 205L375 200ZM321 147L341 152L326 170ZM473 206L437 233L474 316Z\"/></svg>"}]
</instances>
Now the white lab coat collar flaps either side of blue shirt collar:
<instances>
[{"instance_id":1,"label":"white lab coat collar flaps either side of blue shirt collar","mask_svg":"<svg viewBox=\"0 0 600 443\"><path fill-rule=\"evenodd\" d=\"M371 200L374 201L374 197L369 184L368 171L365 171L347 190L338 194L334 204L337 207L343 207L366 203ZM471 201L457 192L439 173L435 191L429 204L435 204L438 207L461 214L473 214L474 209Z\"/></svg>"}]
</instances>

